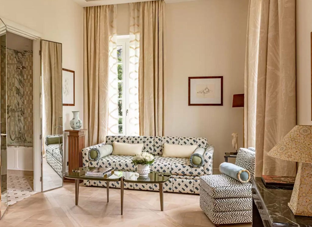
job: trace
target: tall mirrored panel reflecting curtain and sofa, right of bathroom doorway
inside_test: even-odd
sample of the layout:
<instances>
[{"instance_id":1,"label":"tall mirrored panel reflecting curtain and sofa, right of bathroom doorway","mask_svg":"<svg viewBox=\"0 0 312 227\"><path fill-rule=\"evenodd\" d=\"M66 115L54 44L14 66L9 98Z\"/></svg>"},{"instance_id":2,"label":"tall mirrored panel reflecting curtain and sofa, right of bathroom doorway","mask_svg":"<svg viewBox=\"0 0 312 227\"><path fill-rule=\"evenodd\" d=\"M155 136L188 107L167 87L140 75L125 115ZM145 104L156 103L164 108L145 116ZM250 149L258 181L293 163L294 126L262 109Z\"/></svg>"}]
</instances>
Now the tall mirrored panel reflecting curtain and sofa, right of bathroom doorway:
<instances>
[{"instance_id":1,"label":"tall mirrored panel reflecting curtain and sofa, right of bathroom doorway","mask_svg":"<svg viewBox=\"0 0 312 227\"><path fill-rule=\"evenodd\" d=\"M62 44L41 40L42 191L63 186Z\"/></svg>"}]
</instances>

